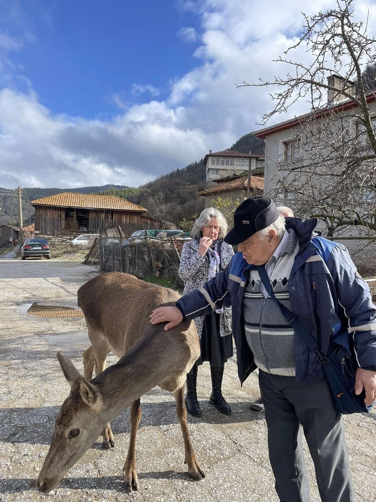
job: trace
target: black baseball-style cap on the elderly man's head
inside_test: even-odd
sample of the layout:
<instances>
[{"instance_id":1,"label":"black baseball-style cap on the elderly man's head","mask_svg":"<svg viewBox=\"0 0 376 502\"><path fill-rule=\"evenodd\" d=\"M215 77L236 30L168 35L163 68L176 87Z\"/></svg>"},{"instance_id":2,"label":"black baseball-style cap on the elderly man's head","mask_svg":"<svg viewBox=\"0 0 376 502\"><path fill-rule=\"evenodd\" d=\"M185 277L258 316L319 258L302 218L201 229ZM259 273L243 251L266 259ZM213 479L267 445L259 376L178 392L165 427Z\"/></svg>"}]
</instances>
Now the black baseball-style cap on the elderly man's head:
<instances>
[{"instance_id":1,"label":"black baseball-style cap on the elderly man's head","mask_svg":"<svg viewBox=\"0 0 376 502\"><path fill-rule=\"evenodd\" d=\"M254 233L266 228L279 216L277 206L267 195L250 197L240 204L234 213L234 228L229 231L225 241L240 244Z\"/></svg>"}]
</instances>

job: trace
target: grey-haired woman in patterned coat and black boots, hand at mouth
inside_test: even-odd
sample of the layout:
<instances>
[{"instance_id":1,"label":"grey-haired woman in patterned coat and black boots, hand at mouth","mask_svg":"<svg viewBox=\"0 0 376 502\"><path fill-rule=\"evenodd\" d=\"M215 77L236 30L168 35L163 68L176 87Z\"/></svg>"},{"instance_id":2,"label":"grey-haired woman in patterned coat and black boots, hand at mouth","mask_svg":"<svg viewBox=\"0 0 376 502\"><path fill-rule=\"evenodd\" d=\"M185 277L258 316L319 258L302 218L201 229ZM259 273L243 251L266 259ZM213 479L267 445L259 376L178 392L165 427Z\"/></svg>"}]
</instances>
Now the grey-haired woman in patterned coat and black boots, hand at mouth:
<instances>
[{"instance_id":1,"label":"grey-haired woman in patterned coat and black boots, hand at mouth","mask_svg":"<svg viewBox=\"0 0 376 502\"><path fill-rule=\"evenodd\" d=\"M185 282L184 295L201 288L231 262L234 252L223 240L226 232L226 218L218 209L204 209L197 218L191 232L193 239L186 242L181 251L179 276ZM197 370L204 361L209 361L212 375L210 402L221 413L229 415L231 408L222 396L222 378L225 362L233 356L231 308L224 307L205 317L197 317L195 324L201 356L186 375L186 409L195 417L203 414L197 401Z\"/></svg>"}]
</instances>

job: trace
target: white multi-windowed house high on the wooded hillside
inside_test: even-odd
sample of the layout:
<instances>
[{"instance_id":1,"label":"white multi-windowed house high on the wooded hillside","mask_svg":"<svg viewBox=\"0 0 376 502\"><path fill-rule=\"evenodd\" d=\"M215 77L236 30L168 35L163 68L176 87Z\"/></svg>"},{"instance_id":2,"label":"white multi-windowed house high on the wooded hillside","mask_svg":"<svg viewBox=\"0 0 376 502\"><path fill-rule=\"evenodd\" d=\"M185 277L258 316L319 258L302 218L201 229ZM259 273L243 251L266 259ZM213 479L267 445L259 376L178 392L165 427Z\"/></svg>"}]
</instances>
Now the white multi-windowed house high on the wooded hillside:
<instances>
[{"instance_id":1,"label":"white multi-windowed house high on the wooded hillside","mask_svg":"<svg viewBox=\"0 0 376 502\"><path fill-rule=\"evenodd\" d=\"M209 150L204 158L206 166L206 181L213 181L232 173L241 173L249 170L251 163L251 171L256 168L263 168L265 164L265 156L263 154L248 154L236 152L234 150L224 150L223 152L212 153Z\"/></svg>"}]
</instances>

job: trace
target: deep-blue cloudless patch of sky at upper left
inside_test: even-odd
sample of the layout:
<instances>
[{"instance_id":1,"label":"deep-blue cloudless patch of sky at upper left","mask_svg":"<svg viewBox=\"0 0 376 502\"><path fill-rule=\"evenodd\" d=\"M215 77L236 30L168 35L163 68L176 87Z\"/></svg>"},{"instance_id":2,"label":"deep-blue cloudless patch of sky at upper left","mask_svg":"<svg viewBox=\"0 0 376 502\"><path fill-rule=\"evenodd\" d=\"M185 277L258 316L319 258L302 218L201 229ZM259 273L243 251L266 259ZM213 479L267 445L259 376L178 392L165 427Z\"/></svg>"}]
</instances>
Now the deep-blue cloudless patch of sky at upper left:
<instances>
[{"instance_id":1,"label":"deep-blue cloudless patch of sky at upper left","mask_svg":"<svg viewBox=\"0 0 376 502\"><path fill-rule=\"evenodd\" d=\"M170 78L179 78L197 61L192 46L176 33L197 25L197 16L168 1L25 2L25 22L16 36L32 28L36 38L14 56L33 82L40 102L54 113L85 118L110 117L112 96L126 103L150 97L132 84L150 85L164 99ZM156 92L158 91L158 94Z\"/></svg>"}]
</instances>

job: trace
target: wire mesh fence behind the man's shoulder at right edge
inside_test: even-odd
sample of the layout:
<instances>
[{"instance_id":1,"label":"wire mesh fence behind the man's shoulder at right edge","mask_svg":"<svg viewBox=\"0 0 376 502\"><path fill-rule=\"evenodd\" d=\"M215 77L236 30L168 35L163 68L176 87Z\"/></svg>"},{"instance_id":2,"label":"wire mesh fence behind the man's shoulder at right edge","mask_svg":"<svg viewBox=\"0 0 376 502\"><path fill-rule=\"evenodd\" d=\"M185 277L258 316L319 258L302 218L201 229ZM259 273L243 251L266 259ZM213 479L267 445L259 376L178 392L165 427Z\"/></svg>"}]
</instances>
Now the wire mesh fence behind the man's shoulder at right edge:
<instances>
[{"instance_id":1,"label":"wire mesh fence behind the man's shoulder at right edge","mask_svg":"<svg viewBox=\"0 0 376 502\"><path fill-rule=\"evenodd\" d=\"M347 247L362 277L376 276L376 237L332 237L331 240Z\"/></svg>"}]
</instances>

